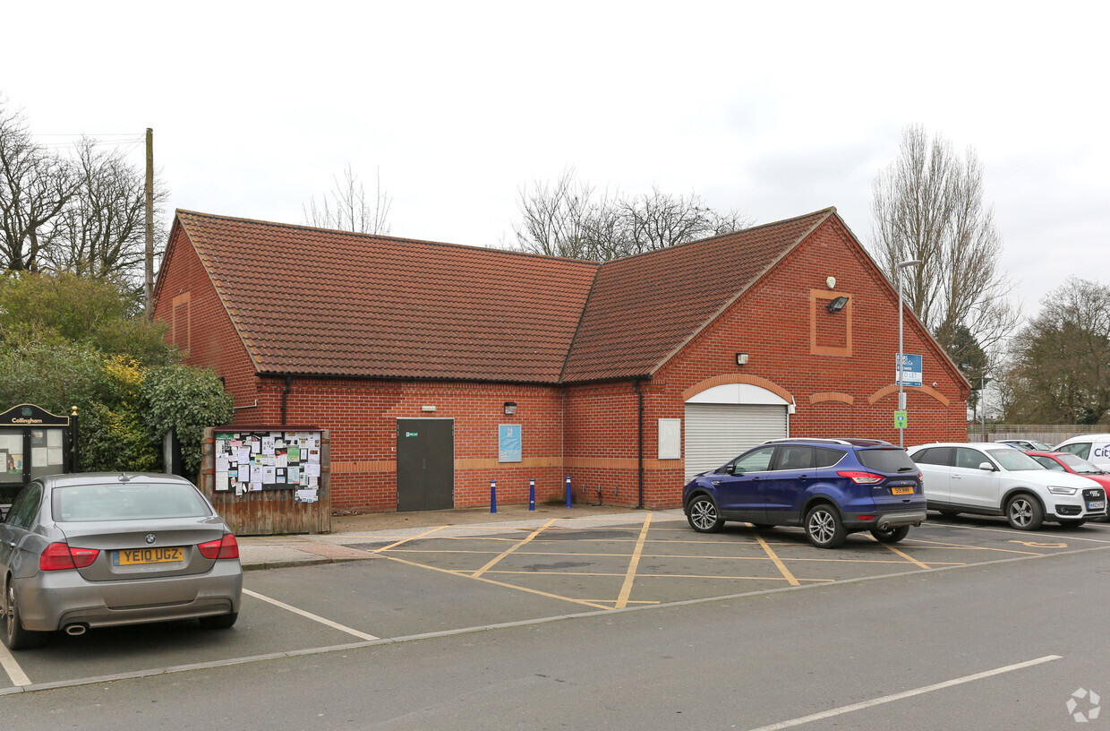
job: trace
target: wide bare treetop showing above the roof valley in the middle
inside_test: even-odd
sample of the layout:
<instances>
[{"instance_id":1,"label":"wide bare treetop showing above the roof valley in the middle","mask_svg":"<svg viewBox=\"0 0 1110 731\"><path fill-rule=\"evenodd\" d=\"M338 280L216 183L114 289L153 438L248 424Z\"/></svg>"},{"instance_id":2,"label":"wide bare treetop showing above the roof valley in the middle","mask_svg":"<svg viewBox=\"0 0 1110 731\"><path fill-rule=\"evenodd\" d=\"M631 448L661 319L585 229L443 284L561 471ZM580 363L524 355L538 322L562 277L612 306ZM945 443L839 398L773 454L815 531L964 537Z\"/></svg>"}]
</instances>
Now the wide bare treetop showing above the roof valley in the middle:
<instances>
[{"instance_id":1,"label":"wide bare treetop showing above the roof valley in the middle","mask_svg":"<svg viewBox=\"0 0 1110 731\"><path fill-rule=\"evenodd\" d=\"M665 249L718 233L737 231L751 220L736 211L720 214L696 193L650 193L624 198L577 181L565 170L554 183L521 188L522 221L514 226L517 246L535 253L606 261Z\"/></svg>"}]
</instances>

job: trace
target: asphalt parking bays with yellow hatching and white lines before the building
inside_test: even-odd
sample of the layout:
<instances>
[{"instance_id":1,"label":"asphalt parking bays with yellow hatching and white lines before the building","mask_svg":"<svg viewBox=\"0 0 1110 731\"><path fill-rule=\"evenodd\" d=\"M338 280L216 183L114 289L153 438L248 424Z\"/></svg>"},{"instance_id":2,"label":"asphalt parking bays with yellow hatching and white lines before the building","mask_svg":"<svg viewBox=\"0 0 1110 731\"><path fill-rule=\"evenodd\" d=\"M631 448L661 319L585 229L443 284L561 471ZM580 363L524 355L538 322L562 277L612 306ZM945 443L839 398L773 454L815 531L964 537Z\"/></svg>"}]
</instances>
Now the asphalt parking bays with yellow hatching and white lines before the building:
<instances>
[{"instance_id":1,"label":"asphalt parking bays with yellow hatching and white lines before the building","mask_svg":"<svg viewBox=\"0 0 1110 731\"><path fill-rule=\"evenodd\" d=\"M1108 523L1030 533L1000 518L935 513L900 543L857 533L835 551L811 547L797 528L727 523L695 533L677 511L630 513L619 524L447 532L347 535L344 545L374 559L248 572L229 630L205 631L195 620L141 624L0 651L0 693L1110 549ZM819 601L820 591L809 595Z\"/></svg>"}]
</instances>

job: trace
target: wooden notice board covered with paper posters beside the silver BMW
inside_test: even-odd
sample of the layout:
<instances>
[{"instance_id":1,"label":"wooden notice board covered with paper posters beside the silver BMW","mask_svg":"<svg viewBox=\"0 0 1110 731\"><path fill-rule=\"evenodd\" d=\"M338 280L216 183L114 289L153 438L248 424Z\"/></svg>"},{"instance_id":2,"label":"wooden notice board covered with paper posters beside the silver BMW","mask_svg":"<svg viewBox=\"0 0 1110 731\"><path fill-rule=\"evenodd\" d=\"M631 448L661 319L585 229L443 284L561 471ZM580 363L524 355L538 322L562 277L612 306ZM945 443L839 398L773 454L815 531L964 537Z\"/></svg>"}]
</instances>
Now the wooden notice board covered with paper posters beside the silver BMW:
<instances>
[{"instance_id":1,"label":"wooden notice board covered with paper posters beside the silver BMW","mask_svg":"<svg viewBox=\"0 0 1110 731\"><path fill-rule=\"evenodd\" d=\"M200 487L235 533L330 532L327 455L316 427L209 428Z\"/></svg>"}]
</instances>

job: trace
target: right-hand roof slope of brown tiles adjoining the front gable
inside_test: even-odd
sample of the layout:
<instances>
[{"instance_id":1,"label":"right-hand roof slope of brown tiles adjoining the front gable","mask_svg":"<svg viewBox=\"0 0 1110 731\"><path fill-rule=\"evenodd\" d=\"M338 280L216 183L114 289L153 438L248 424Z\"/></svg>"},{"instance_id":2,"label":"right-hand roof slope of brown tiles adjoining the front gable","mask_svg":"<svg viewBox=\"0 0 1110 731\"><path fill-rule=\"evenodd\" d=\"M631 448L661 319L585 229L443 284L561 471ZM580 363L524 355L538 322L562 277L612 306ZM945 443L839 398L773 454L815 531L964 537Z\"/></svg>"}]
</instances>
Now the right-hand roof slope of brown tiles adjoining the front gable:
<instances>
[{"instance_id":1,"label":"right-hand roof slope of brown tiles adjoining the front gable","mask_svg":"<svg viewBox=\"0 0 1110 731\"><path fill-rule=\"evenodd\" d=\"M563 380L653 373L834 211L606 262Z\"/></svg>"}]
</instances>

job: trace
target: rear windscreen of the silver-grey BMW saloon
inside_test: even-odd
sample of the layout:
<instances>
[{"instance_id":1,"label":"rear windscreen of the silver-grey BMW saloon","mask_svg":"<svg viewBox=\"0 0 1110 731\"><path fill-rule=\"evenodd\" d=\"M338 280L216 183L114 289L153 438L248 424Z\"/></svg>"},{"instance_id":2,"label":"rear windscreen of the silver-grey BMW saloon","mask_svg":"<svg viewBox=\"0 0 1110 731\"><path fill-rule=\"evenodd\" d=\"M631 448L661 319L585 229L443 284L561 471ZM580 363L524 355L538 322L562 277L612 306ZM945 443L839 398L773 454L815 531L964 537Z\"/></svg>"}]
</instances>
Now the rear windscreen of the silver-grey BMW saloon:
<instances>
[{"instance_id":1,"label":"rear windscreen of the silver-grey BMW saloon","mask_svg":"<svg viewBox=\"0 0 1110 731\"><path fill-rule=\"evenodd\" d=\"M212 514L191 484L128 482L54 488L51 511L57 522L206 518Z\"/></svg>"}]
</instances>

